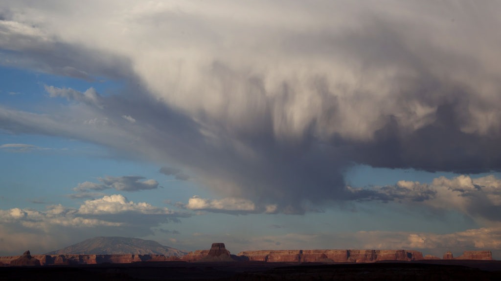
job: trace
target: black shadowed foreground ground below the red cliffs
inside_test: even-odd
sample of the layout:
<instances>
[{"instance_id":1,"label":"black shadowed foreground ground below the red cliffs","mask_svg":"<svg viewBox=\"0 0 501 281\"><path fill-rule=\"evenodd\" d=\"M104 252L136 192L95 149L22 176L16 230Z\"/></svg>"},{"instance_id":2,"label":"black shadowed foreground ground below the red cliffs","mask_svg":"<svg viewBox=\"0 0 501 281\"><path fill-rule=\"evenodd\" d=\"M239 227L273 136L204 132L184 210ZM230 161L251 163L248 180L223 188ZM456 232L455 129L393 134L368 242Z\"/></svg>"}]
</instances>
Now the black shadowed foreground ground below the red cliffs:
<instances>
[{"instance_id":1,"label":"black shadowed foreground ground below the red cliffs","mask_svg":"<svg viewBox=\"0 0 501 281\"><path fill-rule=\"evenodd\" d=\"M0 267L0 280L500 280L500 261L134 262Z\"/></svg>"}]
</instances>

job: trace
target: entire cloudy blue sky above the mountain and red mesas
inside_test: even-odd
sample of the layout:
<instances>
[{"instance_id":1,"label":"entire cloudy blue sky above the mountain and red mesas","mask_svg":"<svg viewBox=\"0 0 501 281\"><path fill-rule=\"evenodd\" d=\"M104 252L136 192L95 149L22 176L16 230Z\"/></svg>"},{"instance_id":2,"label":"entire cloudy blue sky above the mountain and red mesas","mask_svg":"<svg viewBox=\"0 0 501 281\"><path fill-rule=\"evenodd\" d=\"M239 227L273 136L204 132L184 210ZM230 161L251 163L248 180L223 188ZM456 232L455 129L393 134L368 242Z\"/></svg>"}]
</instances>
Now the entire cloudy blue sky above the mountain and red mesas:
<instances>
[{"instance_id":1,"label":"entire cloudy blue sky above the mountain and red mesas","mask_svg":"<svg viewBox=\"0 0 501 281\"><path fill-rule=\"evenodd\" d=\"M499 1L1 0L0 255L501 258Z\"/></svg>"}]
</instances>

